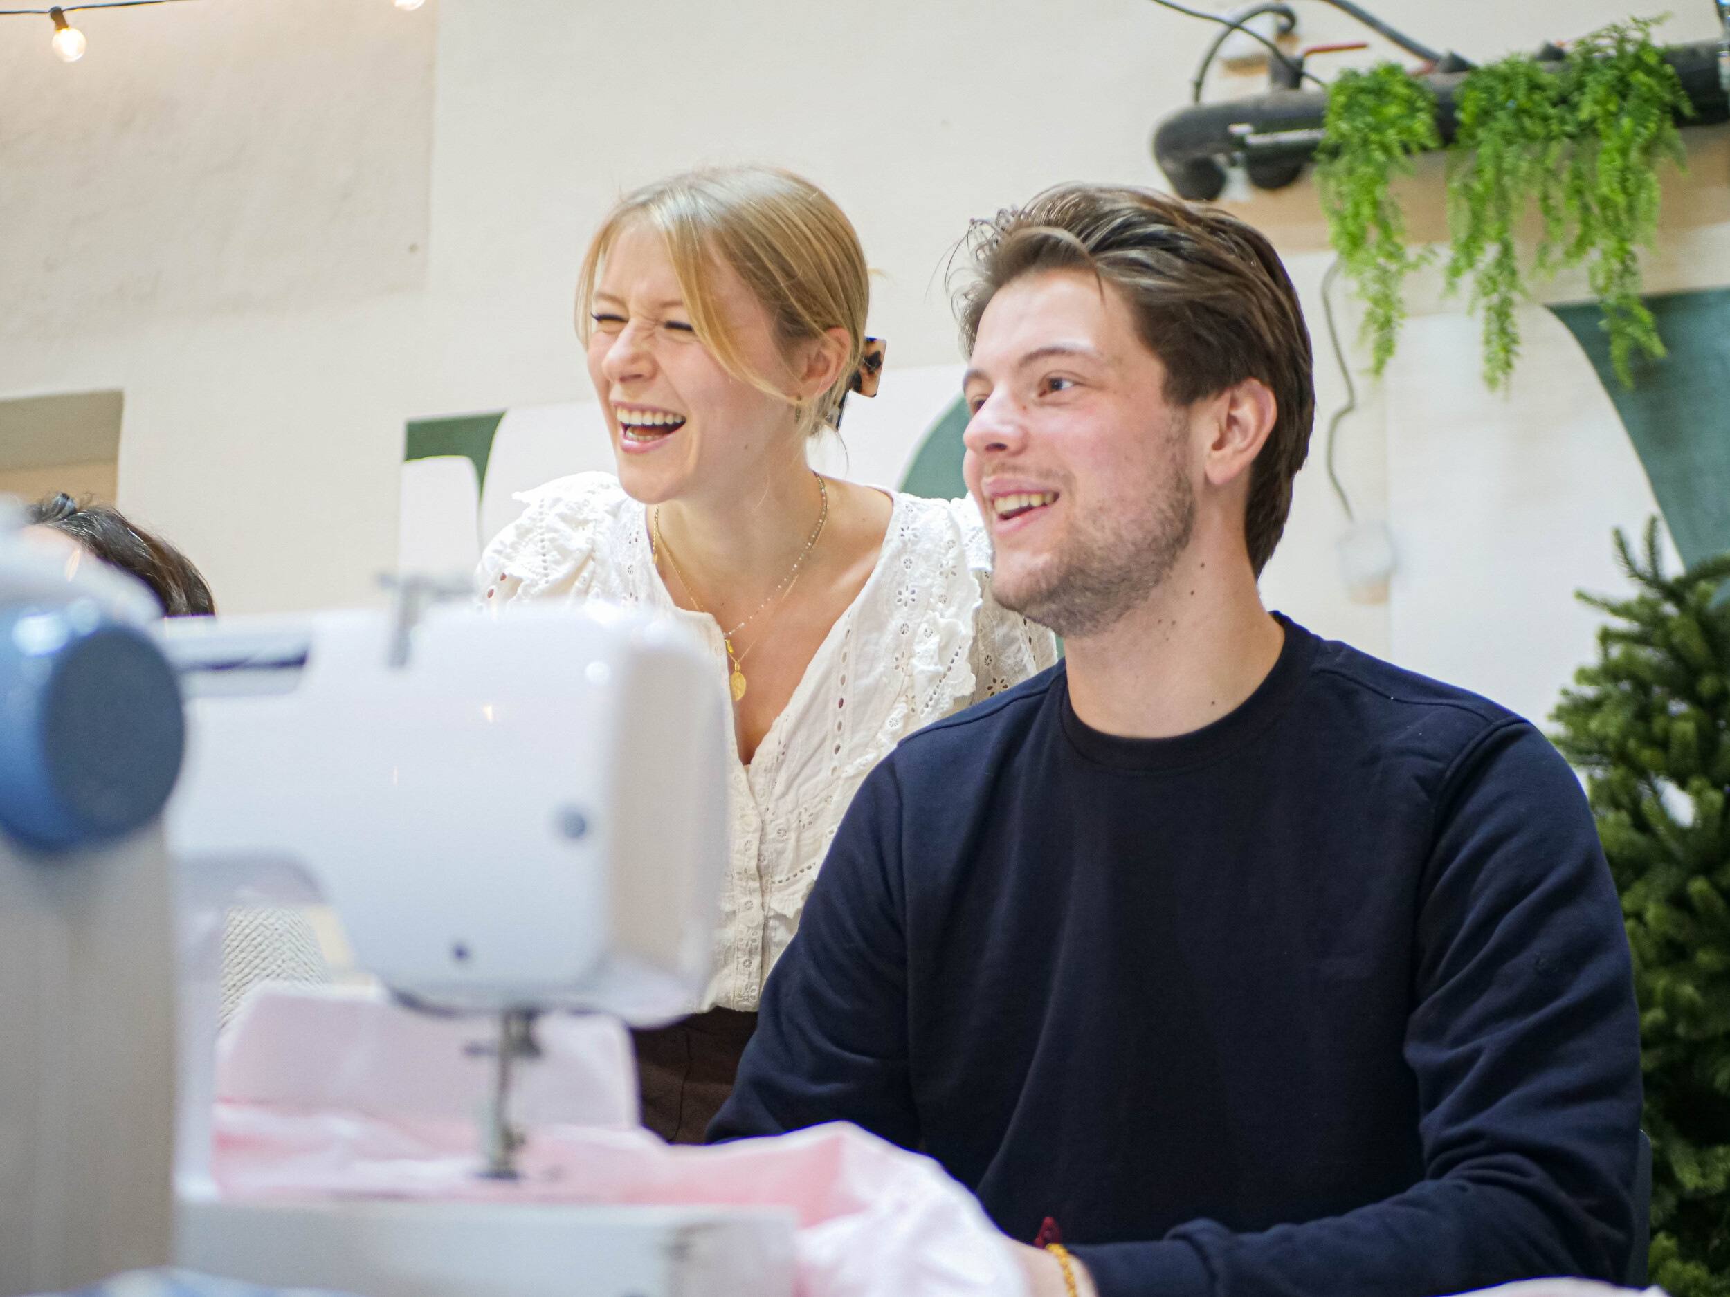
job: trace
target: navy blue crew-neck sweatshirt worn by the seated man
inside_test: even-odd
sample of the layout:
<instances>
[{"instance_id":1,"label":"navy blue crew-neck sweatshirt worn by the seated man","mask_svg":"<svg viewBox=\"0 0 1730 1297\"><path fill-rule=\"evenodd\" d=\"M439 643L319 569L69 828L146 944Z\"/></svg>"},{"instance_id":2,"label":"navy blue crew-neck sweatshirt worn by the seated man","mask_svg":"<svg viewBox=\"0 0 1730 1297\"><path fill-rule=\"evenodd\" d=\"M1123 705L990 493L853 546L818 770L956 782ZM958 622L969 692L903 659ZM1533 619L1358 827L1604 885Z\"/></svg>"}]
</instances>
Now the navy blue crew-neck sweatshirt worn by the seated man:
<instances>
[{"instance_id":1,"label":"navy blue crew-neck sweatshirt worn by the seated man","mask_svg":"<svg viewBox=\"0 0 1730 1297\"><path fill-rule=\"evenodd\" d=\"M1619 1278L1640 1117L1621 910L1531 725L1284 621L1176 738L1064 666L867 778L711 1140L853 1121L1102 1297Z\"/></svg>"}]
</instances>

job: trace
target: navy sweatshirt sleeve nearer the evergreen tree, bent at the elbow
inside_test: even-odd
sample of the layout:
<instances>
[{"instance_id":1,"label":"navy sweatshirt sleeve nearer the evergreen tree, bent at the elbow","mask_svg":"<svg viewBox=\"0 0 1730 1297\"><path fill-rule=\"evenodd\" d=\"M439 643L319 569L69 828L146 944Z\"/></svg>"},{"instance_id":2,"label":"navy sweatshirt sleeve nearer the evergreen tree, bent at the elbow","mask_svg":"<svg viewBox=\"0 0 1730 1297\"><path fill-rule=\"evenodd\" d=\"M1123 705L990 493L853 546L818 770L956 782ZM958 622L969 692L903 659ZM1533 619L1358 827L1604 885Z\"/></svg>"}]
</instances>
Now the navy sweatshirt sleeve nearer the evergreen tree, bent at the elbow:
<instances>
[{"instance_id":1,"label":"navy sweatshirt sleeve nearer the evergreen tree, bent at the elbow","mask_svg":"<svg viewBox=\"0 0 1730 1297\"><path fill-rule=\"evenodd\" d=\"M1076 1247L1100 1297L1420 1297L1621 1281L1640 1039L1621 906L1573 771L1524 721L1455 761L1415 915L1405 1060L1424 1179L1344 1216Z\"/></svg>"}]
</instances>

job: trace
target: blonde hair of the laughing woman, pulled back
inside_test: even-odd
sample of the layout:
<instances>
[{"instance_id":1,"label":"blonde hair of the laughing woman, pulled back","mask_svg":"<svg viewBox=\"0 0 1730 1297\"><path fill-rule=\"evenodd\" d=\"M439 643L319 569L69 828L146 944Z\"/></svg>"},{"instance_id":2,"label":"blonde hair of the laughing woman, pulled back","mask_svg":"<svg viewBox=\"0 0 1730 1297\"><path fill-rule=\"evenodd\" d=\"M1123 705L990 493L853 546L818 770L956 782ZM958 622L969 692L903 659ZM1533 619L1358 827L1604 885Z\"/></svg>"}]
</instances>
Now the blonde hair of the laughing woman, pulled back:
<instances>
[{"instance_id":1,"label":"blonde hair of the laughing woman, pulled back","mask_svg":"<svg viewBox=\"0 0 1730 1297\"><path fill-rule=\"evenodd\" d=\"M685 171L626 194L607 213L583 258L576 327L588 344L595 282L619 233L644 223L666 242L680 296L697 341L739 379L789 399L799 425L815 434L834 424L865 348L870 284L858 233L836 201L803 176L766 166ZM721 261L763 303L784 356L830 329L848 330L848 356L827 391L798 401L758 374L720 308L714 263Z\"/></svg>"}]
</instances>

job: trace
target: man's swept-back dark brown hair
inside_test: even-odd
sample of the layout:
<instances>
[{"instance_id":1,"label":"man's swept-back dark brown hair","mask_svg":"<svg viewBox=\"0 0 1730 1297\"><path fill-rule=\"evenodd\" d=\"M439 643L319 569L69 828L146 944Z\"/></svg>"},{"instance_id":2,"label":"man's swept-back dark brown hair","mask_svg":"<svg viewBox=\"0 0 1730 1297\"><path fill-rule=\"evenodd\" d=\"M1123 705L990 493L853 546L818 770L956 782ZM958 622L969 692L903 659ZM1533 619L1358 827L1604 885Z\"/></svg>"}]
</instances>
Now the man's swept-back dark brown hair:
<instances>
[{"instance_id":1,"label":"man's swept-back dark brown hair","mask_svg":"<svg viewBox=\"0 0 1730 1297\"><path fill-rule=\"evenodd\" d=\"M976 221L976 277L957 310L972 355L979 316L1014 278L1088 270L1128 299L1142 341L1166 367L1166 399L1194 405L1259 379L1277 415L1249 476L1244 540L1261 574L1285 529L1292 477L1310 453L1315 375L1303 308L1273 246L1216 208L1142 188L1067 185Z\"/></svg>"}]
</instances>

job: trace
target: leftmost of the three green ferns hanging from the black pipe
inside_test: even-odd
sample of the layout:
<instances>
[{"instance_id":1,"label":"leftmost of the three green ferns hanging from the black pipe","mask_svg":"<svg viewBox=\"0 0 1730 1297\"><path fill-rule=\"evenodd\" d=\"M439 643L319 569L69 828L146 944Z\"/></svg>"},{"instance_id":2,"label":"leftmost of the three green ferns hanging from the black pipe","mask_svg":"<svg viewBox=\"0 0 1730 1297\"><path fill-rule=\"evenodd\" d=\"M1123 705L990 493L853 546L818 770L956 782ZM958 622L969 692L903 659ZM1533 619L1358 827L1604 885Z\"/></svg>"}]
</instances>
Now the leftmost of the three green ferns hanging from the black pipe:
<instances>
[{"instance_id":1,"label":"leftmost of the three green ferns hanging from the black pipe","mask_svg":"<svg viewBox=\"0 0 1730 1297\"><path fill-rule=\"evenodd\" d=\"M1406 247L1405 214L1387 185L1412 175L1412 154L1439 147L1434 92L1398 64L1341 73L1329 86L1317 187L1329 240L1365 306L1374 374L1400 342L1405 277L1427 259Z\"/></svg>"}]
</instances>

